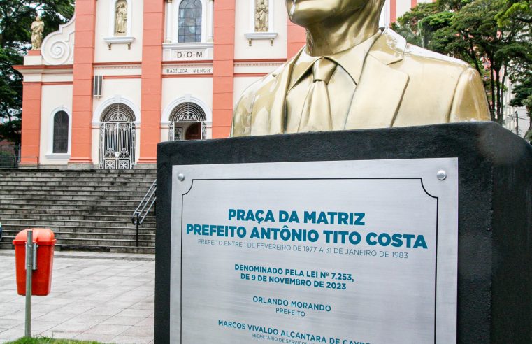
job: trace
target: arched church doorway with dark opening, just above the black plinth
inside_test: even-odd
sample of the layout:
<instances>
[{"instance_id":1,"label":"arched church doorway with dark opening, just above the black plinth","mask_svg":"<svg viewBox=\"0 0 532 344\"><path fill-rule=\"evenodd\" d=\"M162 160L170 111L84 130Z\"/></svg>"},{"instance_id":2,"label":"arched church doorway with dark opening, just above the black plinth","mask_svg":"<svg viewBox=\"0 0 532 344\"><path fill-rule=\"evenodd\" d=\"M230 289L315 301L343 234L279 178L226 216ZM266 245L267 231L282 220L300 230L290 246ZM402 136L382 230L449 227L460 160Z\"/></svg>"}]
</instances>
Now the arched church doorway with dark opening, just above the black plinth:
<instances>
[{"instance_id":1,"label":"arched church doorway with dark opening, just above the black plinth","mask_svg":"<svg viewBox=\"0 0 532 344\"><path fill-rule=\"evenodd\" d=\"M180 103L170 114L168 140L204 140L207 138L207 116L196 103Z\"/></svg>"}]
</instances>

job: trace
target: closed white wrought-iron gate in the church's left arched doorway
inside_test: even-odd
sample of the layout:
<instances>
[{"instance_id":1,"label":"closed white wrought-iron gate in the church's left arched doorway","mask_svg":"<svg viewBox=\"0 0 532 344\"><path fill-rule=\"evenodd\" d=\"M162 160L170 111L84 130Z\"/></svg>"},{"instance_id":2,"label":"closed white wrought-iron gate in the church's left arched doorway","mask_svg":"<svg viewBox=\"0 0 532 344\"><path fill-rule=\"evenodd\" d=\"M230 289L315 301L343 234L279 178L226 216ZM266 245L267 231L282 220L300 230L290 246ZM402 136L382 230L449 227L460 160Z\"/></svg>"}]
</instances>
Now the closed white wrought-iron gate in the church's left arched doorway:
<instances>
[{"instance_id":1,"label":"closed white wrought-iron gate in the church's left arched doorway","mask_svg":"<svg viewBox=\"0 0 532 344\"><path fill-rule=\"evenodd\" d=\"M100 169L133 169L135 124L105 122L100 125Z\"/></svg>"}]
</instances>

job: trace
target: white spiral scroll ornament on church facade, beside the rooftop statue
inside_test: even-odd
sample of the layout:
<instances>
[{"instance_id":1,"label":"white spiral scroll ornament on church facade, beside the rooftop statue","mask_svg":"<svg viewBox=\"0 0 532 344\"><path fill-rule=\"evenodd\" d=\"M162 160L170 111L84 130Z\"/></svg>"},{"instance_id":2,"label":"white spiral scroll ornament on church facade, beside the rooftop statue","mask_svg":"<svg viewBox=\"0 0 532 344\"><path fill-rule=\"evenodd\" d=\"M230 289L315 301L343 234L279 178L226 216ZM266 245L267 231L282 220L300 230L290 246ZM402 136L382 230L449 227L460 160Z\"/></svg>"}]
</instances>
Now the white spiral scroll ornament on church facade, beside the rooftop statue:
<instances>
[{"instance_id":1,"label":"white spiral scroll ornament on church facade, beside the rooftop statue","mask_svg":"<svg viewBox=\"0 0 532 344\"><path fill-rule=\"evenodd\" d=\"M41 48L46 64L73 64L75 17L44 38Z\"/></svg>"}]
</instances>

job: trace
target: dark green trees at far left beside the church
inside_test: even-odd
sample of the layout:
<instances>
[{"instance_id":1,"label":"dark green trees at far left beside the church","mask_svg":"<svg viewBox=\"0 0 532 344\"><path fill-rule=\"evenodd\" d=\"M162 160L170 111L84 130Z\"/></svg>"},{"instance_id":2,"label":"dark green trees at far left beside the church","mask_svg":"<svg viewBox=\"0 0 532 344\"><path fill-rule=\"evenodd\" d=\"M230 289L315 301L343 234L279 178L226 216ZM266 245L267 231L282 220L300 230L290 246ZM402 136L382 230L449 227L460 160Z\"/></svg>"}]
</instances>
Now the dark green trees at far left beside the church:
<instances>
[{"instance_id":1,"label":"dark green trees at far left beside the church","mask_svg":"<svg viewBox=\"0 0 532 344\"><path fill-rule=\"evenodd\" d=\"M0 0L0 117L11 122L22 116L22 76L12 66L22 64L31 48L31 22L37 14L41 15L46 35L57 30L73 13L74 0ZM0 138L20 142L20 135L13 134L16 128L16 122L4 124Z\"/></svg>"}]
</instances>

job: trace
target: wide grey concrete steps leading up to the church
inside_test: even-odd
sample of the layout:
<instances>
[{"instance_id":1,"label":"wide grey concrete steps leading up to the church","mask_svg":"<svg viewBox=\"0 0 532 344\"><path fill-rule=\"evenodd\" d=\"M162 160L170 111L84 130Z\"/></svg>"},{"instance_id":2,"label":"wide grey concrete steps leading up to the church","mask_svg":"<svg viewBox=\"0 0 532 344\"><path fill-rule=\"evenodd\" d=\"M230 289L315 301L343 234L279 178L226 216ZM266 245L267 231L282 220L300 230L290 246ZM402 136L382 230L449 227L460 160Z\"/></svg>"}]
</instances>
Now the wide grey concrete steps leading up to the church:
<instances>
[{"instance_id":1,"label":"wide grey concrete steps leading up to the church","mask_svg":"<svg viewBox=\"0 0 532 344\"><path fill-rule=\"evenodd\" d=\"M57 250L153 253L154 209L139 229L131 214L156 178L153 169L0 170L0 249L16 234L50 228Z\"/></svg>"}]
</instances>

